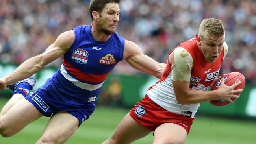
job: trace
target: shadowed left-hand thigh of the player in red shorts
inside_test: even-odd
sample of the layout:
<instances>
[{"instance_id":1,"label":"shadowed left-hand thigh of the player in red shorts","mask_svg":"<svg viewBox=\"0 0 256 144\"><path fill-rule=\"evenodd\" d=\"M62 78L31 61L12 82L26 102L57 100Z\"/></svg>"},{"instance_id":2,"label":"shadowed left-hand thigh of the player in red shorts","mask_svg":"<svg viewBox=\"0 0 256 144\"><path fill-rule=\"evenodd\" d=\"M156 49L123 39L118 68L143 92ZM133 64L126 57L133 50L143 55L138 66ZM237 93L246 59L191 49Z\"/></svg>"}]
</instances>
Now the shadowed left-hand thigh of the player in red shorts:
<instances>
[{"instance_id":1,"label":"shadowed left-hand thigh of the player in red shorts","mask_svg":"<svg viewBox=\"0 0 256 144\"><path fill-rule=\"evenodd\" d=\"M109 138L109 144L130 144L139 138L143 138L151 131L136 122L128 113Z\"/></svg>"}]
</instances>

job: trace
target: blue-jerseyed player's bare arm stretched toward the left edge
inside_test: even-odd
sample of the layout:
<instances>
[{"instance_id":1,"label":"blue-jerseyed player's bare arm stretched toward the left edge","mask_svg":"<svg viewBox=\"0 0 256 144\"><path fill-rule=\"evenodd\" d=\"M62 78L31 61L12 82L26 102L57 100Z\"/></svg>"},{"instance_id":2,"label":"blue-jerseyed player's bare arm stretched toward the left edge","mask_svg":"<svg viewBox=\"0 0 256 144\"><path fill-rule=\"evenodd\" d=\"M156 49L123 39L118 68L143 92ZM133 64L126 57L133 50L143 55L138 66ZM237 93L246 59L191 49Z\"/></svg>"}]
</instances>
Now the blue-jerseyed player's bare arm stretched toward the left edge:
<instances>
[{"instance_id":1,"label":"blue-jerseyed player's bare arm stretched toward the left edge","mask_svg":"<svg viewBox=\"0 0 256 144\"><path fill-rule=\"evenodd\" d=\"M65 54L74 42L75 34L73 30L66 31L58 36L45 52L24 61L16 70L0 79L0 90L6 85L28 78L32 74L41 70L45 65L51 63L61 55Z\"/></svg>"}]
</instances>

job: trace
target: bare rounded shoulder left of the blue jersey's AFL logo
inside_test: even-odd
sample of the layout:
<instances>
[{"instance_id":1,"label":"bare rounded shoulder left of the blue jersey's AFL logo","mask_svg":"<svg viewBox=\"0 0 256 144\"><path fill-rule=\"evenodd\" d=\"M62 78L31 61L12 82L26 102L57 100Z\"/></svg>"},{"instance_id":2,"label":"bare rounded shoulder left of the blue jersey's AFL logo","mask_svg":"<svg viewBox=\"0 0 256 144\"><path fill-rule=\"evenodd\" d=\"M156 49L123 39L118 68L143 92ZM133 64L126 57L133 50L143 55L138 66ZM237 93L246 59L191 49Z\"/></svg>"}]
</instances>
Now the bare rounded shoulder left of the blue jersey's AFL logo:
<instances>
[{"instance_id":1,"label":"bare rounded shoulder left of the blue jersey's AFL logo","mask_svg":"<svg viewBox=\"0 0 256 144\"><path fill-rule=\"evenodd\" d=\"M54 44L60 48L69 48L73 44L75 37L74 30L65 31L58 36Z\"/></svg>"}]
</instances>

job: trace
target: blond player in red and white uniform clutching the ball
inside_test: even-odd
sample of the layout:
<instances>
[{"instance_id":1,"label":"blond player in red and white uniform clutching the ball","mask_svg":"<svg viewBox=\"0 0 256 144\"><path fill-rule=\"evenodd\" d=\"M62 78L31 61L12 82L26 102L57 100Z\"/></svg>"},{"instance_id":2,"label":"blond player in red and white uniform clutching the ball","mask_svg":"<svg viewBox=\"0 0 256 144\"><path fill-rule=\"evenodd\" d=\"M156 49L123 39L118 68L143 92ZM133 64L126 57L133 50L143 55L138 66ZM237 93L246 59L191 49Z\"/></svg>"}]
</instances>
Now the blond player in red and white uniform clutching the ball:
<instances>
[{"instance_id":1,"label":"blond player in red and white uniform clutching the ball","mask_svg":"<svg viewBox=\"0 0 256 144\"><path fill-rule=\"evenodd\" d=\"M200 103L239 98L240 83L207 91L219 76L228 46L221 20L202 20L198 35L172 52L161 79L124 117L104 144L130 144L154 131L153 144L183 144Z\"/></svg>"}]
</instances>

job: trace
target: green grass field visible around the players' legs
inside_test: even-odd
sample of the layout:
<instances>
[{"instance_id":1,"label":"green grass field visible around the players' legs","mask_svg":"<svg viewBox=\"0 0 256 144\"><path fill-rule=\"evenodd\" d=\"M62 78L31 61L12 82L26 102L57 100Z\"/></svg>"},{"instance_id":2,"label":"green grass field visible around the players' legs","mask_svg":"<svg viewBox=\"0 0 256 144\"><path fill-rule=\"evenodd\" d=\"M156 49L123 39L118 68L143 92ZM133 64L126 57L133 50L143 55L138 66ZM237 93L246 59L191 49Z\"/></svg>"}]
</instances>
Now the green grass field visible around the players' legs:
<instances>
[{"instance_id":1,"label":"green grass field visible around the players' legs","mask_svg":"<svg viewBox=\"0 0 256 144\"><path fill-rule=\"evenodd\" d=\"M7 102L0 99L0 108ZM65 144L100 144L108 139L129 109L97 107ZM13 137L0 137L0 144L34 144L48 118L32 122ZM152 133L133 144L152 144ZM185 144L255 144L256 122L196 117Z\"/></svg>"}]
</instances>

